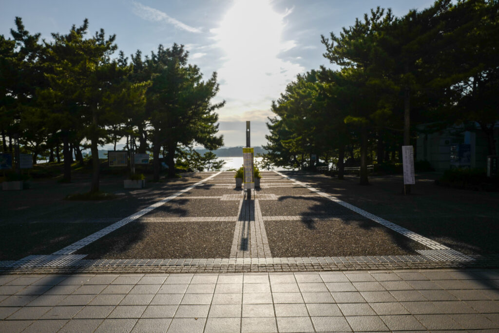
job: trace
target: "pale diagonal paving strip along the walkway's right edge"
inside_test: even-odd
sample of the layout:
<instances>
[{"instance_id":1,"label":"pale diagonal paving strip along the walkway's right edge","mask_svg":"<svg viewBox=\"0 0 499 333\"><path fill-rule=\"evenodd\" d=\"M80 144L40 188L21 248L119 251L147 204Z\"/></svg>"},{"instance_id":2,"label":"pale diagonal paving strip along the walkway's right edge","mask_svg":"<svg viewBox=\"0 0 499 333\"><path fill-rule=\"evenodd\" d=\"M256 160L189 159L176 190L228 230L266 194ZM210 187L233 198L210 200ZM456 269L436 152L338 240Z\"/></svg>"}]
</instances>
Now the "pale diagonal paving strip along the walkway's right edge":
<instances>
[{"instance_id":1,"label":"pale diagonal paving strip along the walkway's right edge","mask_svg":"<svg viewBox=\"0 0 499 333\"><path fill-rule=\"evenodd\" d=\"M418 242L420 244L423 244L423 245L429 247L432 250L451 250L451 248L449 248L449 247L447 247L445 245L442 245L442 244L440 244L438 242L435 242L434 240L431 240L431 239L429 239L427 237L424 237L424 236L422 236L420 234L417 234L417 233L415 233L413 231L410 231L409 229L403 228L403 227L401 227L401 226L399 226L399 225L397 225L395 223L389 222L389 221L387 221L387 220L385 220L385 219L383 219L383 218L381 218L379 216L376 216L374 214L368 213L365 210L362 210L362 209L360 209L358 207L355 207L354 205L346 203L346 202L344 202L344 201L336 198L335 196L333 196L331 194L328 194L328 193L322 192L320 190L317 190L317 189L311 187L310 185L307 185L305 183L297 181L296 179L288 177L288 176L286 176L286 175L284 175L284 174L282 174L280 172L277 172L277 171L274 171L274 172L276 174L278 174L278 175L286 178L286 179L289 179L290 181L294 182L295 184L303 186L303 187L309 189L312 192L317 193L318 195L320 195L320 196L322 196L324 198L327 198L327 199L329 199L329 200L331 200L331 201L333 201L333 202L335 202L335 203L337 203L337 204L339 204L339 205L341 205L341 206L343 206L345 208L348 208L348 209L354 211L355 213L358 213L358 214L362 215L363 217L368 218L371 221L379 223L379 224L381 224L381 225L383 225L383 226L385 226L385 227L387 227L387 228L389 228L389 229L391 229L391 230L393 230L395 232L398 232L399 234L402 234L402 235L404 235L404 236L412 239L413 241L416 241L416 242Z\"/></svg>"}]
</instances>

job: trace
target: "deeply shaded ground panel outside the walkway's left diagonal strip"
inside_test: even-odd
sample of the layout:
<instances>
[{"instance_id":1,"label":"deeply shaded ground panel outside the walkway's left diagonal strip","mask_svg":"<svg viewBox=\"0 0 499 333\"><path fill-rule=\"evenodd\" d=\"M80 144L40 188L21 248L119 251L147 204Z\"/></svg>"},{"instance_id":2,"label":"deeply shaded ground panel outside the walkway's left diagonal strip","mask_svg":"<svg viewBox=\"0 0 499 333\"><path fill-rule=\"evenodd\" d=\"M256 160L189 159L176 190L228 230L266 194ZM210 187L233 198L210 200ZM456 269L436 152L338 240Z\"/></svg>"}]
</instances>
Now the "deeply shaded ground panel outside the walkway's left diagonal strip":
<instances>
[{"instance_id":1,"label":"deeply shaded ground panel outside the walkway's left diagonal strip","mask_svg":"<svg viewBox=\"0 0 499 333\"><path fill-rule=\"evenodd\" d=\"M111 223L22 223L0 226L0 260L54 253Z\"/></svg>"}]
</instances>

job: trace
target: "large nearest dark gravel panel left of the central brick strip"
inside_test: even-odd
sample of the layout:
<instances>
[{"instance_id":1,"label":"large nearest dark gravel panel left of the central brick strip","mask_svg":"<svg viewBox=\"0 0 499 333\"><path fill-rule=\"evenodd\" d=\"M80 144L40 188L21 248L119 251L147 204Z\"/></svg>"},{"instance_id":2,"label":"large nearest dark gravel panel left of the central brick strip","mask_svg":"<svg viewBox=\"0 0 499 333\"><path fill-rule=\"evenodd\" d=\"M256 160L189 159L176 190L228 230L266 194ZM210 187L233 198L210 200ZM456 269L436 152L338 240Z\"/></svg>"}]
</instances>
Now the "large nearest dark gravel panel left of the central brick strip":
<instances>
[{"instance_id":1,"label":"large nearest dark gravel panel left of the central brick strip","mask_svg":"<svg viewBox=\"0 0 499 333\"><path fill-rule=\"evenodd\" d=\"M228 258L235 222L132 222L77 254L85 259Z\"/></svg>"}]
</instances>

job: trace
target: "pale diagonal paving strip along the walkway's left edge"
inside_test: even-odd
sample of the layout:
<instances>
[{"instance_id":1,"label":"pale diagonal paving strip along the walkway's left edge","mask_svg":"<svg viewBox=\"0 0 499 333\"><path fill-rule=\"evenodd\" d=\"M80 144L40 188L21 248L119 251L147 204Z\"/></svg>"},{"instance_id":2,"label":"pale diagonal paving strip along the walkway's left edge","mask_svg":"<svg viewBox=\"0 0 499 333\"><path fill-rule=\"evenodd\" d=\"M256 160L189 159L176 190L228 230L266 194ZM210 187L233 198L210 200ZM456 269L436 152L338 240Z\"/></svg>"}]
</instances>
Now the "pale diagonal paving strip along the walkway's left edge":
<instances>
[{"instance_id":1,"label":"pale diagonal paving strip along the walkway's left edge","mask_svg":"<svg viewBox=\"0 0 499 333\"><path fill-rule=\"evenodd\" d=\"M150 211L152 211L153 209L156 209L158 207L160 207L161 205L163 205L164 203L167 203L168 201L172 200L172 199L175 199L176 197L178 197L179 195L182 195L183 193L187 192L187 191L190 191L192 190L193 188L195 188L196 186L218 176L219 174L221 174L222 171L220 172L217 172L216 174L213 174L211 175L210 177L207 177L199 182L197 182L196 184L193 184L191 186L189 186L188 188L185 188L183 190L180 190L179 192L177 193L174 193L172 194L171 196L167 197L167 198L164 198L154 204L152 204L151 206L147 207L147 208L144 208L143 210L141 211L138 211L137 213L134 213L132 215L130 215L129 217L126 217L116 223L113 223L111 224L110 226L102 229L102 230L99 230L97 231L96 233L93 233L92 235L90 236L87 236L83 239L80 239L79 241L71 244L71 245L68 245L66 246L65 248L57 251L57 252L54 252L52 253L52 255L70 255L70 254L73 254L75 253L76 251L78 251L79 249L87 246L88 244L98 240L99 238L115 231L116 229L119 229L121 227L123 227L125 224L128 224L132 221L135 221L136 219L138 219L139 217L143 216L144 214L147 214L149 213Z\"/></svg>"}]
</instances>

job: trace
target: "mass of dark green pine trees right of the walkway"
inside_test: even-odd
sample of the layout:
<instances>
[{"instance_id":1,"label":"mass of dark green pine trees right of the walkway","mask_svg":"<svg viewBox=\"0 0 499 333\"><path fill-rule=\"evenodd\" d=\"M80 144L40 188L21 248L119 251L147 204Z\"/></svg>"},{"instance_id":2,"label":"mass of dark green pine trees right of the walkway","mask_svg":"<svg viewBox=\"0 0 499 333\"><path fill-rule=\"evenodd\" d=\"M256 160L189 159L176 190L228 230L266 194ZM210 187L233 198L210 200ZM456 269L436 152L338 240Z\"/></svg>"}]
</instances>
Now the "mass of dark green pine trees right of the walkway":
<instances>
[{"instance_id":1,"label":"mass of dark green pine trees right of the walkway","mask_svg":"<svg viewBox=\"0 0 499 333\"><path fill-rule=\"evenodd\" d=\"M429 131L478 123L495 154L498 36L498 0L438 0L402 17L371 9L321 36L324 57L340 69L298 75L272 102L266 157L309 168L315 154L335 161L342 178L344 161L360 155L360 183L368 184L368 163L400 158L423 123Z\"/></svg>"}]
</instances>

